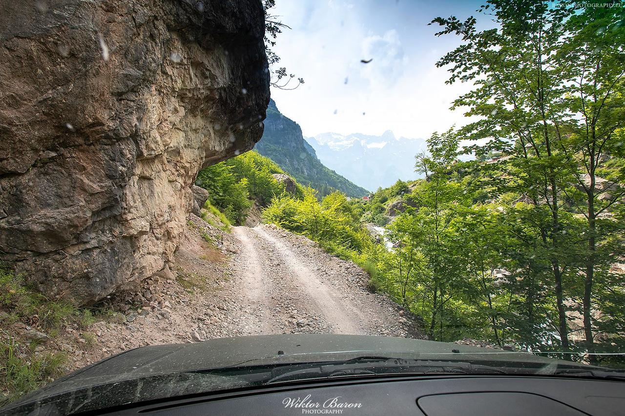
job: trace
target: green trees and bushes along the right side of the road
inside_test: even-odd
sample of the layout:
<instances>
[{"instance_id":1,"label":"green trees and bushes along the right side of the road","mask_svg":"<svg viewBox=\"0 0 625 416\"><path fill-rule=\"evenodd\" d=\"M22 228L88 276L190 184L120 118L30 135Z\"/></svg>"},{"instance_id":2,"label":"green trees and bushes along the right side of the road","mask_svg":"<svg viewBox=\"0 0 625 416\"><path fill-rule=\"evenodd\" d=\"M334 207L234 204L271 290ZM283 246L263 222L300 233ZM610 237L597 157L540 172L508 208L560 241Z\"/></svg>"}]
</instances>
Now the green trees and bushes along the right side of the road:
<instances>
[{"instance_id":1,"label":"green trees and bushes along the right side of the road","mask_svg":"<svg viewBox=\"0 0 625 416\"><path fill-rule=\"evenodd\" d=\"M432 135L426 179L368 202L276 192L264 219L361 265L430 339L614 361L584 353L625 348L622 9L489 7L495 29L432 21L462 39L439 66L472 82L453 106L477 121Z\"/></svg>"}]
</instances>

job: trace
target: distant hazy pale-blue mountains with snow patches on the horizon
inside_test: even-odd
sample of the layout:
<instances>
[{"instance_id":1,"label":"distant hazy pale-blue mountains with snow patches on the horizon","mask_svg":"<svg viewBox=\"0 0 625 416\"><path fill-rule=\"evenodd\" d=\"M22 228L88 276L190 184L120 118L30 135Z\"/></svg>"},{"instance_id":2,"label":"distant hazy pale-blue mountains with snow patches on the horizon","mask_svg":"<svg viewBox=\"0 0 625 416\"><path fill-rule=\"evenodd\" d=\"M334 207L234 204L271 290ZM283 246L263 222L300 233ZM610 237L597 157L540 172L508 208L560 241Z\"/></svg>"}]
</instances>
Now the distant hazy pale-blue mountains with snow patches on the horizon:
<instances>
[{"instance_id":1,"label":"distant hazy pale-blue mountains with snow patches on the horizon","mask_svg":"<svg viewBox=\"0 0 625 416\"><path fill-rule=\"evenodd\" d=\"M397 179L417 179L414 156L426 149L426 141L397 138L390 130L382 136L323 133L306 141L324 165L372 190L389 187Z\"/></svg>"}]
</instances>

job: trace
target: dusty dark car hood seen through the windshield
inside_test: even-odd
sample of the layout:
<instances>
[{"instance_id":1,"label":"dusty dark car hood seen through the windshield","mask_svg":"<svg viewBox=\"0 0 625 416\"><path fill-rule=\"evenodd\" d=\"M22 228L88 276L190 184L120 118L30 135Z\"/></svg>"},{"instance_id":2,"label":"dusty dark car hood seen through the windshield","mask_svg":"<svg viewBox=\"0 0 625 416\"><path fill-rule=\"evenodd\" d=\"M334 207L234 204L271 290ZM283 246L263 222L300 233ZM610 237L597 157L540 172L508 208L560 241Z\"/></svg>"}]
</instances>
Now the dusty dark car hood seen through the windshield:
<instances>
[{"instance_id":1,"label":"dusty dark car hood seen through the windshield","mask_svg":"<svg viewBox=\"0 0 625 416\"><path fill-rule=\"evenodd\" d=\"M489 360L519 364L574 363L427 340L366 335L256 335L195 344L151 345L129 350L76 370L2 409L24 414L53 407L51 415L104 409L119 404L245 387L237 378L194 374L239 365L348 360L379 355L423 360Z\"/></svg>"}]
</instances>

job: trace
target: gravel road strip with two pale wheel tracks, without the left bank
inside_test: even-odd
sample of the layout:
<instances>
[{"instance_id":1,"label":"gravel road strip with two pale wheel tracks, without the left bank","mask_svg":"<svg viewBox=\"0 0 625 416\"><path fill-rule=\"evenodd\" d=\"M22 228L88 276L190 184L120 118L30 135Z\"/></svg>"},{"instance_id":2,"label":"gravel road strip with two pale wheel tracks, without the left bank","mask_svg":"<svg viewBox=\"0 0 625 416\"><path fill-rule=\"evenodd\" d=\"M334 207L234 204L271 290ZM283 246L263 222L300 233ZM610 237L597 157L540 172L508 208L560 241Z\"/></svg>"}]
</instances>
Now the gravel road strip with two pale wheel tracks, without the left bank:
<instances>
[{"instance_id":1,"label":"gravel road strip with two pale wheel tracks, without the left bank","mask_svg":"<svg viewBox=\"0 0 625 416\"><path fill-rule=\"evenodd\" d=\"M232 274L257 317L249 334L405 336L396 305L364 289L366 274L314 242L271 225L235 227Z\"/></svg>"}]
</instances>

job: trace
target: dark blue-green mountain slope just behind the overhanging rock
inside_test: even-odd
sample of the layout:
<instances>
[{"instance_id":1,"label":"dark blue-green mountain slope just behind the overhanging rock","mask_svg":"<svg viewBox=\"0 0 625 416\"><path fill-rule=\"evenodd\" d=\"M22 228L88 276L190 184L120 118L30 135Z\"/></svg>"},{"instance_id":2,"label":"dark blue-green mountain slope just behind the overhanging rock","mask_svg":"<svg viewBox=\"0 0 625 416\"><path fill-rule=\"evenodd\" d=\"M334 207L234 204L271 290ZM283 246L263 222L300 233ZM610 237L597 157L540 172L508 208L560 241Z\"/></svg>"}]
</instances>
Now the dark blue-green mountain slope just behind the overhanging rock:
<instances>
[{"instance_id":1,"label":"dark blue-green mountain slope just behind the overhanging rock","mask_svg":"<svg viewBox=\"0 0 625 416\"><path fill-rule=\"evenodd\" d=\"M256 144L257 151L276 162L293 176L297 182L317 189L323 196L338 189L347 196L361 197L369 194L366 189L354 185L336 172L324 166L315 150L304 140L299 125L283 116L276 102L269 101L265 130Z\"/></svg>"}]
</instances>

